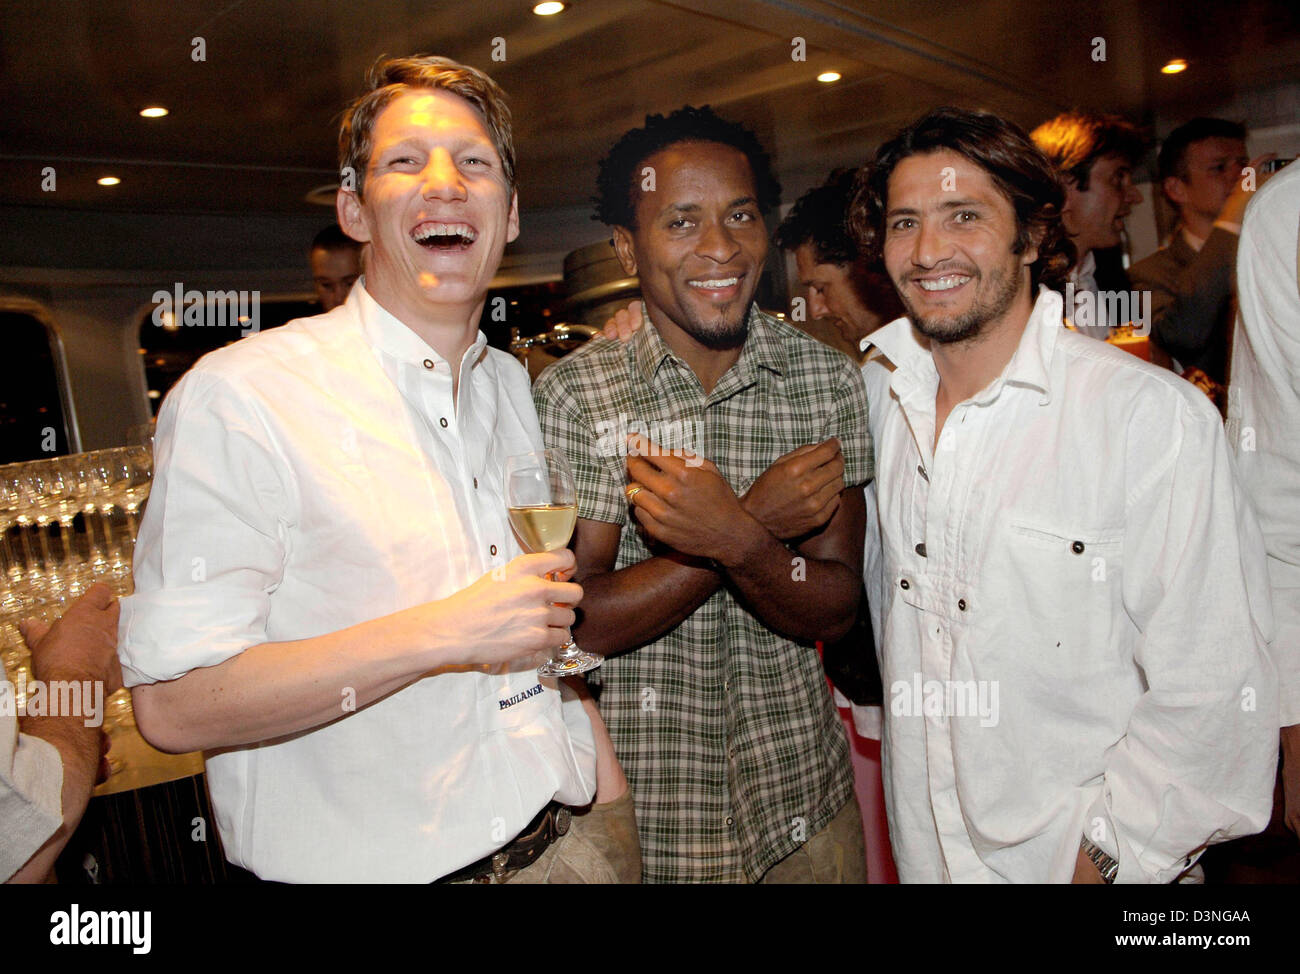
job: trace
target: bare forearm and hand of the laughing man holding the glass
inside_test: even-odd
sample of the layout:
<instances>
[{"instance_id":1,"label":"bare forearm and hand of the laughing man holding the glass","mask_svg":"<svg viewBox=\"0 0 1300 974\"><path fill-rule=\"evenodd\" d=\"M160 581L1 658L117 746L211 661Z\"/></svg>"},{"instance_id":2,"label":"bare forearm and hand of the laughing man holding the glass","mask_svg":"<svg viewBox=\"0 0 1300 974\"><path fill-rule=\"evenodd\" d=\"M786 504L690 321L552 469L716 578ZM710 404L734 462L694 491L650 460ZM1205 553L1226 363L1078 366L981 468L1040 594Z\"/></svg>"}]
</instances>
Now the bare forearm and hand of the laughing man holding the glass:
<instances>
[{"instance_id":1,"label":"bare forearm and hand of the laughing man holding the glass","mask_svg":"<svg viewBox=\"0 0 1300 974\"><path fill-rule=\"evenodd\" d=\"M135 687L136 724L174 753L254 744L329 723L434 671L551 652L573 622L552 603L577 603L582 589L543 576L572 567L567 550L521 555L447 598Z\"/></svg>"}]
</instances>

